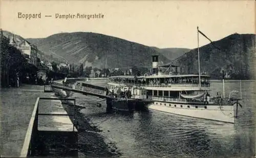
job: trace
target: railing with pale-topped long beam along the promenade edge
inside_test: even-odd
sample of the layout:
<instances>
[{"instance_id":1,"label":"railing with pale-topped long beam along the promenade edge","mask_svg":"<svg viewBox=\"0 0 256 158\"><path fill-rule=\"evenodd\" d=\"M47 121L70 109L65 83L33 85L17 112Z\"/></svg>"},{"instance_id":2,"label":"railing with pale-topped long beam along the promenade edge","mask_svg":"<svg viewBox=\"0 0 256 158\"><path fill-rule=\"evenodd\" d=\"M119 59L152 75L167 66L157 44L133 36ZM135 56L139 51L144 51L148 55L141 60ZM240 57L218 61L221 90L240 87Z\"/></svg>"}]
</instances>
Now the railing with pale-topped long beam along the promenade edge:
<instances>
[{"instance_id":1,"label":"railing with pale-topped long beam along the promenade edge","mask_svg":"<svg viewBox=\"0 0 256 158\"><path fill-rule=\"evenodd\" d=\"M34 109L32 112L32 116L30 118L29 126L27 129L25 141L23 144L22 151L20 152L19 157L28 157L32 156L34 154L34 148L36 145L36 139L37 139L37 133L38 133L38 116L39 115L45 115L45 114L38 114L38 108L39 108L39 100L66 100L66 101L74 101L74 111L73 115L68 114L47 114L51 116L73 116L73 132L75 131L75 104L76 100L74 98L45 98L45 97L38 97L36 99Z\"/></svg>"}]
</instances>

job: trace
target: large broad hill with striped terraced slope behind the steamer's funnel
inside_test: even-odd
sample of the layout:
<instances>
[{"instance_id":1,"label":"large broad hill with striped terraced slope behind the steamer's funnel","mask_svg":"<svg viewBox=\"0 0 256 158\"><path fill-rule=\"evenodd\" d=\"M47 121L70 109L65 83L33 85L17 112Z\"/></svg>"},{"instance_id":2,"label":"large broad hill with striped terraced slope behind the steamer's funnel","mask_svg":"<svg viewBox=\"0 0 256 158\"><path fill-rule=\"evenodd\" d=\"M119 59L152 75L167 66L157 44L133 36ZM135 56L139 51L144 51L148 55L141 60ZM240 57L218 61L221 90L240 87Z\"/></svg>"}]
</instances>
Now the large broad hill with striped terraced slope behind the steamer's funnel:
<instances>
[{"instance_id":1,"label":"large broad hill with striped terraced slope behind the steamer's funnel","mask_svg":"<svg viewBox=\"0 0 256 158\"><path fill-rule=\"evenodd\" d=\"M158 54L160 63L169 60L155 49L121 38L91 32L59 33L47 38L29 38L39 50L65 57L70 63L83 63L102 69L127 68L133 65L151 67L151 55Z\"/></svg>"}]
</instances>

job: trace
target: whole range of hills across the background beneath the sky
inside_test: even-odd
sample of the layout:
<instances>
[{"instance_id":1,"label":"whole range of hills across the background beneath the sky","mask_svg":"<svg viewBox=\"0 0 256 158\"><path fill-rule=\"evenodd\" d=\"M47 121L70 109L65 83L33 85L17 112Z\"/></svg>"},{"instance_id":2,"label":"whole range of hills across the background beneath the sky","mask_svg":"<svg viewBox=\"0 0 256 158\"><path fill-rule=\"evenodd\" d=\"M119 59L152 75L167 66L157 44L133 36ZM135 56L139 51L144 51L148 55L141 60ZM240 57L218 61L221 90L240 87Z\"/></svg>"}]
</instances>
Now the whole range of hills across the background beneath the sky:
<instances>
[{"instance_id":1,"label":"whole range of hills across the background beneath the sky","mask_svg":"<svg viewBox=\"0 0 256 158\"><path fill-rule=\"evenodd\" d=\"M204 38L204 37L200 37ZM181 66L182 73L198 73L197 48L148 47L122 38L92 33L59 33L46 38L27 38L47 55L66 58L70 63L98 68L151 67L151 55L159 55L160 63ZM254 77L255 34L234 33L200 47L201 73L221 77L224 69L231 79Z\"/></svg>"}]
</instances>

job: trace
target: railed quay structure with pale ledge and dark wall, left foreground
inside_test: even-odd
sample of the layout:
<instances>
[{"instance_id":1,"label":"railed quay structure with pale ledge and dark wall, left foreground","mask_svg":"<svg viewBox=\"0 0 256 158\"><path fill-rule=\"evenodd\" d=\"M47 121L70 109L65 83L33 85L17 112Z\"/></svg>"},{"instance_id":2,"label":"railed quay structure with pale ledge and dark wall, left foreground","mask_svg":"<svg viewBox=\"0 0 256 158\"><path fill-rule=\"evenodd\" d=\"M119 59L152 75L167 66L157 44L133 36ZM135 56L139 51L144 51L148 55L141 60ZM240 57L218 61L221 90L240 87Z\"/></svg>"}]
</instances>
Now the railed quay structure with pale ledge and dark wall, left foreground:
<instances>
[{"instance_id":1,"label":"railed quay structure with pale ledge and dark wall, left foreground","mask_svg":"<svg viewBox=\"0 0 256 158\"><path fill-rule=\"evenodd\" d=\"M44 101L39 103L40 99ZM75 105L75 99L38 97L19 157L78 155L77 129L61 102L57 105L56 100L73 100ZM42 108L39 108L39 104L42 104ZM74 114L71 116L74 117Z\"/></svg>"}]
</instances>

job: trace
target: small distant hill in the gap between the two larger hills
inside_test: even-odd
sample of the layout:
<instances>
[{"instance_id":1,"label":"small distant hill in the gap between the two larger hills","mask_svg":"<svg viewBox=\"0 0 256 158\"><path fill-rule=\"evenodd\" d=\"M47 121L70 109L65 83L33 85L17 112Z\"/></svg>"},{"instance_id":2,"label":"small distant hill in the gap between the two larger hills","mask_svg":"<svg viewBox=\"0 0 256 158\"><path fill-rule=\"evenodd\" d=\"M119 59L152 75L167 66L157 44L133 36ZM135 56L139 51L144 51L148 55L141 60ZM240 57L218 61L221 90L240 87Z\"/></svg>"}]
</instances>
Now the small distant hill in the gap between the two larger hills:
<instances>
[{"instance_id":1,"label":"small distant hill in the gap between the two larger hills","mask_svg":"<svg viewBox=\"0 0 256 158\"><path fill-rule=\"evenodd\" d=\"M169 60L174 60L182 56L186 52L190 51L190 49L186 49L186 48L164 48L164 49L159 49L156 47L152 47L152 48L158 51L160 54L162 54Z\"/></svg>"}]
</instances>

